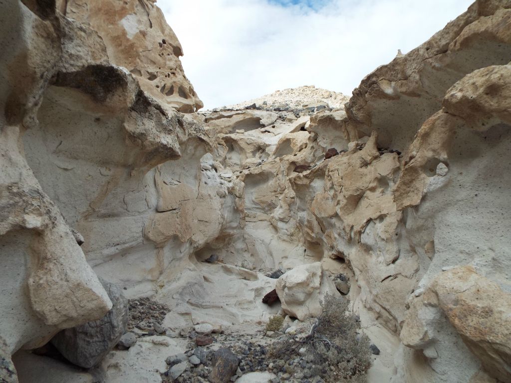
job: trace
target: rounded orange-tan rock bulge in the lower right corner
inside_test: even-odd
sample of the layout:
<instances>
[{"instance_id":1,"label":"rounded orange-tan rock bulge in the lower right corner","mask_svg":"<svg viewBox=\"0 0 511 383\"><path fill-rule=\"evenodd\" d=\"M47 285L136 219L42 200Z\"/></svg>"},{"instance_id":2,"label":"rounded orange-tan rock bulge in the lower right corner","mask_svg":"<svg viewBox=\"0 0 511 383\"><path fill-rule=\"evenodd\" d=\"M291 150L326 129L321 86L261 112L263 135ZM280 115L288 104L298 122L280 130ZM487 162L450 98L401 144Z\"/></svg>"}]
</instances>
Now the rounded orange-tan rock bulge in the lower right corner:
<instances>
[{"instance_id":1,"label":"rounded orange-tan rock bulge in the lower right corner","mask_svg":"<svg viewBox=\"0 0 511 383\"><path fill-rule=\"evenodd\" d=\"M435 344L443 340L435 333L431 318L445 315L485 370L501 381L508 381L510 310L511 294L477 274L473 267L456 267L442 272L430 289L415 298L401 339L409 347L424 349L426 354L438 357ZM438 311L442 314L435 313Z\"/></svg>"}]
</instances>

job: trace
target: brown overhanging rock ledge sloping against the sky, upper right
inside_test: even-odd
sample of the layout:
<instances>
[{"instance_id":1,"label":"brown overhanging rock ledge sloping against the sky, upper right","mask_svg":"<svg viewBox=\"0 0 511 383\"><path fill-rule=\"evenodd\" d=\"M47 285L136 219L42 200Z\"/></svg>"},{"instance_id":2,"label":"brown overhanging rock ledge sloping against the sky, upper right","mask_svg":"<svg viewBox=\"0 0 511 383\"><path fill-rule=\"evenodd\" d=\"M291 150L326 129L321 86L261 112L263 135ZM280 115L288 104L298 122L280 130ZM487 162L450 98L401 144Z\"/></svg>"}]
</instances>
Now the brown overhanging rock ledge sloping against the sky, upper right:
<instances>
[{"instance_id":1,"label":"brown overhanging rock ledge sloping against the sky, upper right","mask_svg":"<svg viewBox=\"0 0 511 383\"><path fill-rule=\"evenodd\" d=\"M346 107L351 124L377 130L382 148L404 151L452 84L509 62L510 11L506 1L476 1L424 44L380 66L354 90Z\"/></svg>"}]
</instances>

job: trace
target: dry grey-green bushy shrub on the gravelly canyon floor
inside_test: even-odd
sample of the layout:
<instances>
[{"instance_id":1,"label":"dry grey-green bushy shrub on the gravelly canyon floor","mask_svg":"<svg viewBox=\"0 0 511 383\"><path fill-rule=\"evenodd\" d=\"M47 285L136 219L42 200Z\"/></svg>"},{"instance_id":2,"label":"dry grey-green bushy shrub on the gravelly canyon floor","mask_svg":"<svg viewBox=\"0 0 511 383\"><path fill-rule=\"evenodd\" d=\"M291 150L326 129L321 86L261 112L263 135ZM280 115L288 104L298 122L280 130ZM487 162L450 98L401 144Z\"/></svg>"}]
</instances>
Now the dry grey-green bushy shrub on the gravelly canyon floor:
<instances>
[{"instance_id":1,"label":"dry grey-green bushy shrub on the gravelly canyon floor","mask_svg":"<svg viewBox=\"0 0 511 383\"><path fill-rule=\"evenodd\" d=\"M358 332L359 322L348 312L349 301L327 295L322 312L302 339L287 336L275 341L271 356L287 360L306 355L315 373L327 382L363 382L370 366L369 339Z\"/></svg>"}]
</instances>

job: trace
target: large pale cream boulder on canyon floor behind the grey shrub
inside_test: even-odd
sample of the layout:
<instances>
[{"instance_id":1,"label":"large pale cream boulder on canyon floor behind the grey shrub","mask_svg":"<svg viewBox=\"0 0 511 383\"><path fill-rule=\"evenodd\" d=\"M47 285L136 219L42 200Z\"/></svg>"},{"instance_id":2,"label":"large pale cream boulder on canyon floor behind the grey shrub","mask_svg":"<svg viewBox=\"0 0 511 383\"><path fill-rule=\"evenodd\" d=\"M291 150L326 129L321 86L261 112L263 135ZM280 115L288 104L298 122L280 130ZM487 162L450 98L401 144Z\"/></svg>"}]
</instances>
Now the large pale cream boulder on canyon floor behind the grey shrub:
<instances>
[{"instance_id":1,"label":"large pale cream boulder on canyon floor behind the grey shrub","mask_svg":"<svg viewBox=\"0 0 511 383\"><path fill-rule=\"evenodd\" d=\"M300 321L321 314L320 300L339 294L320 262L300 265L278 278L275 290L286 314Z\"/></svg>"}]
</instances>

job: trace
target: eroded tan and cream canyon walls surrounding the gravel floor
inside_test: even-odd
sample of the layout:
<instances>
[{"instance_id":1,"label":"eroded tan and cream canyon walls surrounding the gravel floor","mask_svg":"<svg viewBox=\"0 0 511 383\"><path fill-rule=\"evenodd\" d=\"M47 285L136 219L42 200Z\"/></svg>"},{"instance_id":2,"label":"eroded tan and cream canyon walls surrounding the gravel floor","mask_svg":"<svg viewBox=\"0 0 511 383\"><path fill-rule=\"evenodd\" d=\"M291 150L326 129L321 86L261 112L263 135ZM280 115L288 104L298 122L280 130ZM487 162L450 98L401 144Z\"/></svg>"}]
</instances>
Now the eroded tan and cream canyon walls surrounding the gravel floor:
<instances>
[{"instance_id":1,"label":"eroded tan and cream canyon walls surrounding the gravel floor","mask_svg":"<svg viewBox=\"0 0 511 383\"><path fill-rule=\"evenodd\" d=\"M206 112L153 1L0 8L3 381L187 381L216 333L304 321L337 284L378 350L368 381L511 381L509 1L349 102L303 87ZM41 346L112 316L98 276L145 307L81 371ZM166 364L194 326L206 348ZM257 378L298 379L275 366Z\"/></svg>"}]
</instances>

